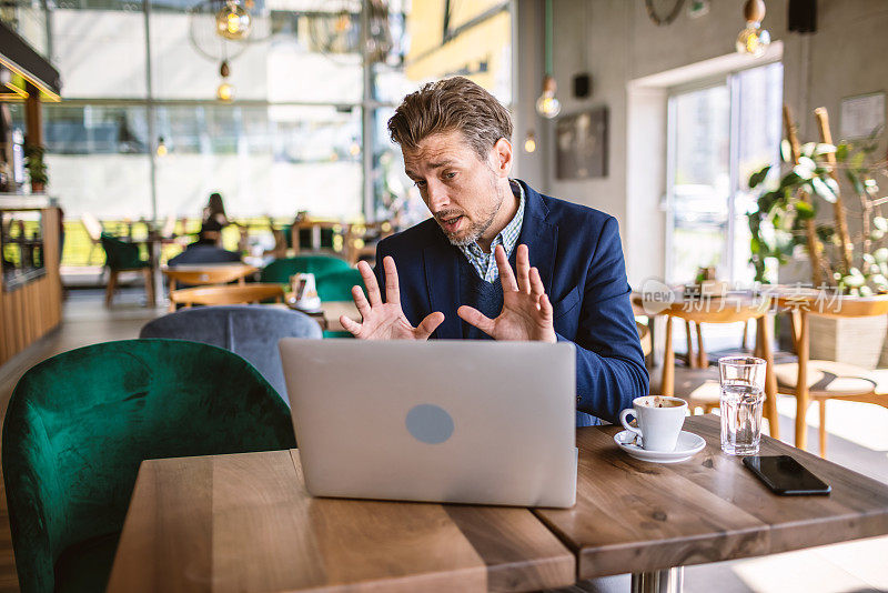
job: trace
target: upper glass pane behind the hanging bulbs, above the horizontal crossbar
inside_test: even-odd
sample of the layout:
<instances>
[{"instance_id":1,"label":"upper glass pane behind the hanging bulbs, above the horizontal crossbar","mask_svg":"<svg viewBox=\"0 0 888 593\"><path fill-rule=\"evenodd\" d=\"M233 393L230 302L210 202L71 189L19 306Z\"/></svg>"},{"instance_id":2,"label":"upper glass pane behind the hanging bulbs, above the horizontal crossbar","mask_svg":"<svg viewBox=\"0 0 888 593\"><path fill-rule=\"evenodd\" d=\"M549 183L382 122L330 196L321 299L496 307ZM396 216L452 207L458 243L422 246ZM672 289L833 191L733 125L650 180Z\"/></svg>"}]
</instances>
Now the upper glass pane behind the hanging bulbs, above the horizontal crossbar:
<instances>
[{"instance_id":1,"label":"upper glass pane behind the hanging bulbs, above the horizontal crossbar","mask_svg":"<svg viewBox=\"0 0 888 593\"><path fill-rule=\"evenodd\" d=\"M226 60L235 99L361 101L357 38L345 36L336 43L335 31L325 27L339 18L335 12L256 9L248 40L234 42L215 33L212 13L173 11L167 2L160 7L151 13L152 81L159 99L213 100ZM357 14L342 18L347 31L359 31Z\"/></svg>"}]
</instances>

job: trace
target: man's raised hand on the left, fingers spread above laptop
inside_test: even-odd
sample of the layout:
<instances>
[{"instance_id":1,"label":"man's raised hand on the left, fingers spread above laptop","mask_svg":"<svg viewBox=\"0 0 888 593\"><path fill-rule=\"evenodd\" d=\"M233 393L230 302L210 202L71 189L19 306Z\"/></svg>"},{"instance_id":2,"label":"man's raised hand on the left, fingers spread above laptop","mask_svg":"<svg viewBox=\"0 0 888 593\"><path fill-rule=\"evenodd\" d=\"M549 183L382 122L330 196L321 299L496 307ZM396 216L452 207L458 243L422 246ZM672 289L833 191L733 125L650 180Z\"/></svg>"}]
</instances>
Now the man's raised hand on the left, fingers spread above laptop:
<instances>
[{"instance_id":1,"label":"man's raised hand on the left, fingers spread above laptop","mask_svg":"<svg viewBox=\"0 0 888 593\"><path fill-rule=\"evenodd\" d=\"M340 318L342 326L359 340L427 340L432 332L444 321L444 313L428 314L418 326L414 328L404 316L401 309L401 289L397 284L397 269L391 255L383 259L385 270L385 301L382 302L380 284L367 262L357 264L367 295L361 287L352 287L352 298L362 322L357 323L345 315Z\"/></svg>"}]
</instances>

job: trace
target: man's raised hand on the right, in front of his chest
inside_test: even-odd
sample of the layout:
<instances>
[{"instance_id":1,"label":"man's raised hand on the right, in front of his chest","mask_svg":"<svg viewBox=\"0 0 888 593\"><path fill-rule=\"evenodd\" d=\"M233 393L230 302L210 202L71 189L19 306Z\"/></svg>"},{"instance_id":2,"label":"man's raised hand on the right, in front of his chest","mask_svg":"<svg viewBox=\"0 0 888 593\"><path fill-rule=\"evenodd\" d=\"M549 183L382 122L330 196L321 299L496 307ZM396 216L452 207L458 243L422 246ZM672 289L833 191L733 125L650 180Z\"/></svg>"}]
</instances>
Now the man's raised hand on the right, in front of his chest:
<instances>
[{"instance_id":1,"label":"man's raised hand on the right, in front of his chest","mask_svg":"<svg viewBox=\"0 0 888 593\"><path fill-rule=\"evenodd\" d=\"M527 245L518 245L515 255L517 280L508 265L506 250L496 245L496 267L503 287L503 311L496 319L484 315L477 309L463 305L456 313L494 340L537 340L555 342L552 303L548 301L539 270L531 268Z\"/></svg>"}]
</instances>

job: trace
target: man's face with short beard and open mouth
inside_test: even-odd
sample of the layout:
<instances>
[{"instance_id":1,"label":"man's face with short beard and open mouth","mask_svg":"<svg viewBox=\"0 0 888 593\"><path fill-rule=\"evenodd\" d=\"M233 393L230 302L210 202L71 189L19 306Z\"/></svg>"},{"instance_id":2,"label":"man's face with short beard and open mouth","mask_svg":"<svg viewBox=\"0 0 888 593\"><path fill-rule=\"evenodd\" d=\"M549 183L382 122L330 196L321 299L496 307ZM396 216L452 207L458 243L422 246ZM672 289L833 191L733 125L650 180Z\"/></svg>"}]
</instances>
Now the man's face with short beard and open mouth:
<instances>
[{"instance_id":1,"label":"man's face with short beard and open mouth","mask_svg":"<svg viewBox=\"0 0 888 593\"><path fill-rule=\"evenodd\" d=\"M407 177L454 245L474 243L496 219L505 198L496 167L495 149L482 160L460 131L430 135L404 150Z\"/></svg>"}]
</instances>

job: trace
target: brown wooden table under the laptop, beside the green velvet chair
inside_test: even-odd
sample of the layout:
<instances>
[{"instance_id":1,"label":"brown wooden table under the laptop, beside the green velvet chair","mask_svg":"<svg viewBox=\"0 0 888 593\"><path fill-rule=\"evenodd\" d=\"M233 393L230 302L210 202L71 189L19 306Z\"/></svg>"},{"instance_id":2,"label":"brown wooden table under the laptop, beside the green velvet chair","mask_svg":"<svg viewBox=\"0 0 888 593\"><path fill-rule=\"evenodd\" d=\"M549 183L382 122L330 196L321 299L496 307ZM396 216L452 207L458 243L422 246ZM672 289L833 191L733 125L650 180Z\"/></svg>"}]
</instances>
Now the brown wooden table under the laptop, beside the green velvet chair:
<instances>
[{"instance_id":1,"label":"brown wooden table under the laptop, beside the green velvet chair","mask_svg":"<svg viewBox=\"0 0 888 593\"><path fill-rule=\"evenodd\" d=\"M574 575L526 509L312 499L293 450L143 462L108 591L528 591Z\"/></svg>"}]
</instances>

